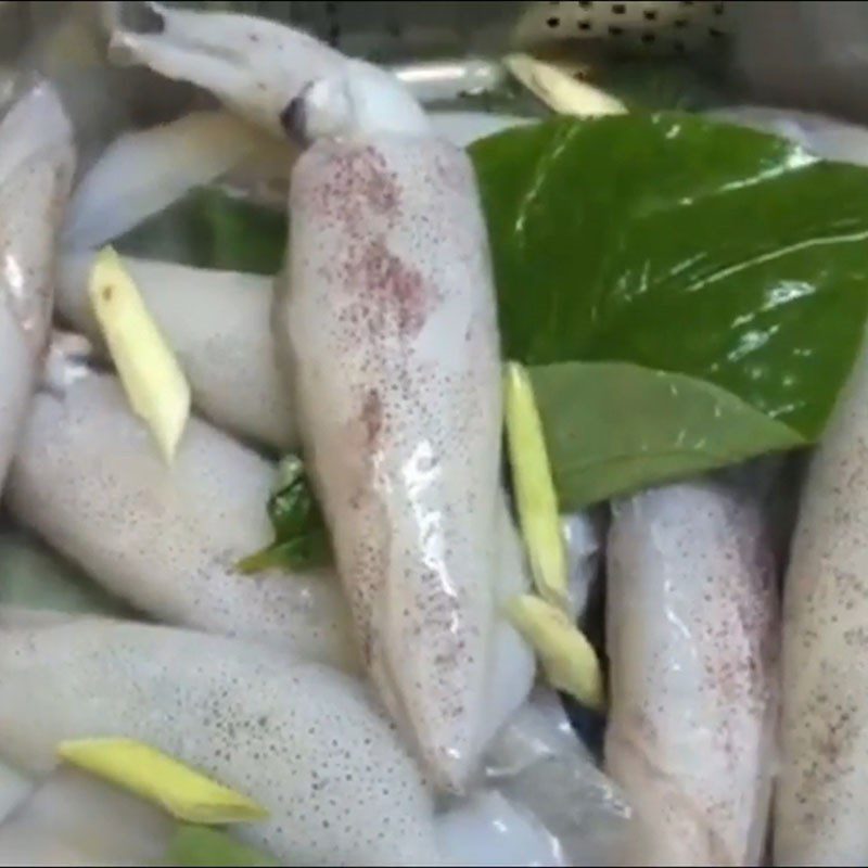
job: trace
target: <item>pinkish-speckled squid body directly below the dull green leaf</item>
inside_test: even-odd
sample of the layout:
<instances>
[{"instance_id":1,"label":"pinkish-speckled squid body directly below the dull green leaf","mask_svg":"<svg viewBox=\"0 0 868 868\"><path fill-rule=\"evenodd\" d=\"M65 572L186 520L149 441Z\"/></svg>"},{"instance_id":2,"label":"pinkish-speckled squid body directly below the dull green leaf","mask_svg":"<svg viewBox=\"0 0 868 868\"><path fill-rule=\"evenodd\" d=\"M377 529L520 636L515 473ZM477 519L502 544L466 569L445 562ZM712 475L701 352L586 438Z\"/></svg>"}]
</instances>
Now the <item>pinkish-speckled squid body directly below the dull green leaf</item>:
<instances>
[{"instance_id":1,"label":"pinkish-speckled squid body directly below the dull green leaf","mask_svg":"<svg viewBox=\"0 0 868 868\"><path fill-rule=\"evenodd\" d=\"M624 864L760 864L778 641L764 524L714 480L614 509L605 763L643 825Z\"/></svg>"}]
</instances>

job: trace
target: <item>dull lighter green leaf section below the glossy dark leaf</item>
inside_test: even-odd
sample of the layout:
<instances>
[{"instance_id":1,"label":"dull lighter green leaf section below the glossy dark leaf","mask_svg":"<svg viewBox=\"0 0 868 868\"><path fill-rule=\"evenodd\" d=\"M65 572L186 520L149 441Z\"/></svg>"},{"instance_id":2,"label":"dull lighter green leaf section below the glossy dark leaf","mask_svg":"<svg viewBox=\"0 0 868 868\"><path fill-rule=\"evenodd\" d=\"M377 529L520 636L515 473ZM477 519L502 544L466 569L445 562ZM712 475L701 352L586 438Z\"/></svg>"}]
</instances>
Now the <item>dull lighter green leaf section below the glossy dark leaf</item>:
<instances>
[{"instance_id":1,"label":"dull lighter green leaf section below the glossy dark leaf","mask_svg":"<svg viewBox=\"0 0 868 868\"><path fill-rule=\"evenodd\" d=\"M805 445L788 425L691 376L580 361L531 375L562 509Z\"/></svg>"}]
</instances>

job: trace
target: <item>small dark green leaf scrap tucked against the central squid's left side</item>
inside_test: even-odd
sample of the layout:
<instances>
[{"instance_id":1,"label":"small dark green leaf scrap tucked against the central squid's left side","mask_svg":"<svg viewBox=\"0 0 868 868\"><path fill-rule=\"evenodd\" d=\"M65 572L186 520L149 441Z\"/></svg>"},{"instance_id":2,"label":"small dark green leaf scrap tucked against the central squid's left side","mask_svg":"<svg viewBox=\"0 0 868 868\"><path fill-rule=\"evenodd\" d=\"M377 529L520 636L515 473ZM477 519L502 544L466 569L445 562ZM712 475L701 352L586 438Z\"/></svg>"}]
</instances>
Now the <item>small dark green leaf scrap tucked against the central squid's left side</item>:
<instances>
[{"instance_id":1,"label":"small dark green leaf scrap tucked against the central squid's left side","mask_svg":"<svg viewBox=\"0 0 868 868\"><path fill-rule=\"evenodd\" d=\"M326 521L297 456L289 455L281 460L277 489L268 499L267 510L275 541L239 561L238 570L252 574L272 567L298 570L329 563L331 548Z\"/></svg>"}]
</instances>

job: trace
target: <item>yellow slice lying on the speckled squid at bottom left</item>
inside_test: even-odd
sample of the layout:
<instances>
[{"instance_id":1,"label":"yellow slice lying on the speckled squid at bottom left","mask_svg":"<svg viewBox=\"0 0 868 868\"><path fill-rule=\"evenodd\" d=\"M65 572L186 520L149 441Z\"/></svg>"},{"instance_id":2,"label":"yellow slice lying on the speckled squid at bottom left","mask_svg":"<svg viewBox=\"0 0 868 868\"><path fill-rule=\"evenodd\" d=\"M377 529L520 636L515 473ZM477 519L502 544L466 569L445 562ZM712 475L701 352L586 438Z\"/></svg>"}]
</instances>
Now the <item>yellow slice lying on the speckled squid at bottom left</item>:
<instances>
[{"instance_id":1,"label":"yellow slice lying on the speckled squid at bottom left","mask_svg":"<svg viewBox=\"0 0 868 868\"><path fill-rule=\"evenodd\" d=\"M72 765L153 802L184 822L221 826L261 820L268 812L245 795L132 739L63 741L58 754Z\"/></svg>"}]
</instances>

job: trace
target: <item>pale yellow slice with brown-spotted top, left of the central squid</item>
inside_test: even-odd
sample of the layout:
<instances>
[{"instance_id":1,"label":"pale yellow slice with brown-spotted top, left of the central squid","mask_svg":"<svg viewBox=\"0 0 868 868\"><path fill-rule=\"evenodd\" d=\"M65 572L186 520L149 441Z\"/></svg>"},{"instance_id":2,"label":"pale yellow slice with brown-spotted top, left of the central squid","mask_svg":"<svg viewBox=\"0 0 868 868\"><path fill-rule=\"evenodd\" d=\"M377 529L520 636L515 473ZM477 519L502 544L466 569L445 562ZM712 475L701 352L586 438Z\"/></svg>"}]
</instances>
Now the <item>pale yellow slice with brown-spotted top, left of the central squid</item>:
<instances>
[{"instance_id":1,"label":"pale yellow slice with brown-spotted top, left of the central squid","mask_svg":"<svg viewBox=\"0 0 868 868\"><path fill-rule=\"evenodd\" d=\"M171 462L190 418L190 384L120 257L98 254L90 301L133 412Z\"/></svg>"}]
</instances>

